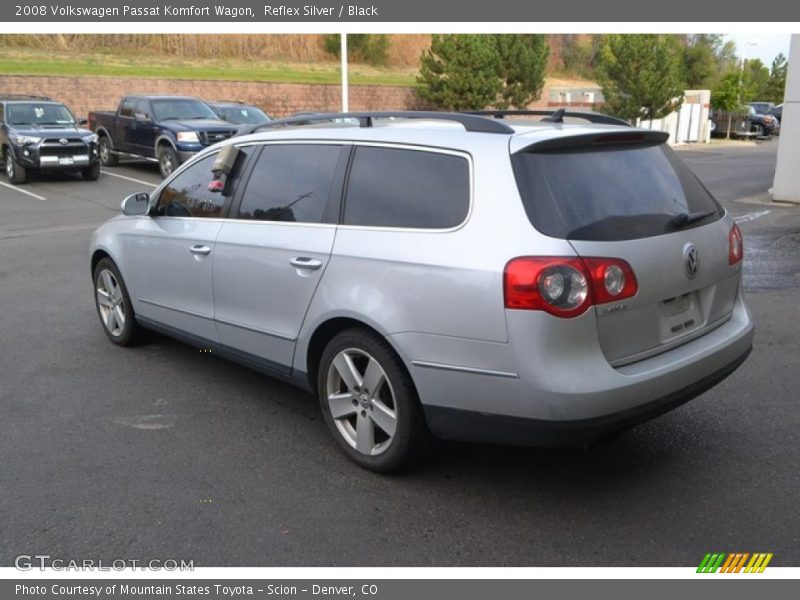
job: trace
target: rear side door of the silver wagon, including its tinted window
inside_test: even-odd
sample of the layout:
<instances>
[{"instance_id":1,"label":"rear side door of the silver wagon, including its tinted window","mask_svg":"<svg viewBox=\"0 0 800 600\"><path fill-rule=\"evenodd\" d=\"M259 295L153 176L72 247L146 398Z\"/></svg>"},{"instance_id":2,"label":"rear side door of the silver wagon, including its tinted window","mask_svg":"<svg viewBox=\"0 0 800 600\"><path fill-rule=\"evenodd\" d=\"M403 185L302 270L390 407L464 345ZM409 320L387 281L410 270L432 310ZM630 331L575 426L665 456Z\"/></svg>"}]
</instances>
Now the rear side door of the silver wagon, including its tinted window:
<instances>
[{"instance_id":1,"label":"rear side door of the silver wagon, including its tinted window","mask_svg":"<svg viewBox=\"0 0 800 600\"><path fill-rule=\"evenodd\" d=\"M217 237L220 343L286 373L336 234L347 146L265 145Z\"/></svg>"}]
</instances>

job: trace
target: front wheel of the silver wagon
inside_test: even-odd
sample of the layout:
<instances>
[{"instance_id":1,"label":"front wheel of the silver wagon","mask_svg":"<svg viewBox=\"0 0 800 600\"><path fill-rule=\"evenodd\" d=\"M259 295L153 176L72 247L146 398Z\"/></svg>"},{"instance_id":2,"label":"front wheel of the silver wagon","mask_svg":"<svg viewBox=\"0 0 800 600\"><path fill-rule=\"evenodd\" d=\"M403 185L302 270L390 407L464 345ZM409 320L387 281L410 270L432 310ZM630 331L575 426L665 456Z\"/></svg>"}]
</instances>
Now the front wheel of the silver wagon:
<instances>
[{"instance_id":1,"label":"front wheel of the silver wagon","mask_svg":"<svg viewBox=\"0 0 800 600\"><path fill-rule=\"evenodd\" d=\"M141 338L128 288L117 265L103 258L94 269L94 304L108 339L118 346L132 346Z\"/></svg>"}]
</instances>

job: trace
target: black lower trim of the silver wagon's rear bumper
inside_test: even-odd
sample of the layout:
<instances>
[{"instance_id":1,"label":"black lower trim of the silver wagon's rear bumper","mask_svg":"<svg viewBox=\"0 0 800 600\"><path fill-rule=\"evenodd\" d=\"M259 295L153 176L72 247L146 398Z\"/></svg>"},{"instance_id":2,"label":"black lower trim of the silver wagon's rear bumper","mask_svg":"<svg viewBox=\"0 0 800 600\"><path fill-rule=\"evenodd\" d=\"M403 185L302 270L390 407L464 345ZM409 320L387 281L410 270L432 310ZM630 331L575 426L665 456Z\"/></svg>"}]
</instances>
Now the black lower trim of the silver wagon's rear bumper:
<instances>
[{"instance_id":1,"label":"black lower trim of the silver wagon's rear bumper","mask_svg":"<svg viewBox=\"0 0 800 600\"><path fill-rule=\"evenodd\" d=\"M752 347L748 348L732 363L683 389L610 415L549 421L427 405L424 406L425 418L434 435L447 440L516 446L586 446L609 433L649 421L696 398L738 369L751 350Z\"/></svg>"}]
</instances>

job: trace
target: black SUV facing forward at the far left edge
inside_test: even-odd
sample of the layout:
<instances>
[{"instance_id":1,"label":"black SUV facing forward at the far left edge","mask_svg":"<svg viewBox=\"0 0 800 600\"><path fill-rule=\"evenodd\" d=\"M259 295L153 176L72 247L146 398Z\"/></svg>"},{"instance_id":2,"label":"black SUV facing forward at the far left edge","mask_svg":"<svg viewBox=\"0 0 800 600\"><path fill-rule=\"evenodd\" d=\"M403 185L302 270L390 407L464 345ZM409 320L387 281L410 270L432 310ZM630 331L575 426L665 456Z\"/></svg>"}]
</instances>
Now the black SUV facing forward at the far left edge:
<instances>
[{"instance_id":1,"label":"black SUV facing forward at the far left edge","mask_svg":"<svg viewBox=\"0 0 800 600\"><path fill-rule=\"evenodd\" d=\"M24 183L32 171L100 176L97 136L61 102L45 96L0 95L0 148L6 177Z\"/></svg>"}]
</instances>

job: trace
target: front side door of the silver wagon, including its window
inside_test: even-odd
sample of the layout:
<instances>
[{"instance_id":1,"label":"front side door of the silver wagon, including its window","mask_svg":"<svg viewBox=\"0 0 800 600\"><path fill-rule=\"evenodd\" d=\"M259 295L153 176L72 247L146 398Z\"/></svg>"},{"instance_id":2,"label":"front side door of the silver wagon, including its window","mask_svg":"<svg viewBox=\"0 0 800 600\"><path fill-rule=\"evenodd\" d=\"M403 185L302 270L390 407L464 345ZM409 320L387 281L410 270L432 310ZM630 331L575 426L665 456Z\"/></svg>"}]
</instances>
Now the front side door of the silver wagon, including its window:
<instances>
[{"instance_id":1,"label":"front side door of the silver wagon, including its window","mask_svg":"<svg viewBox=\"0 0 800 600\"><path fill-rule=\"evenodd\" d=\"M213 153L194 161L168 180L158 193L154 215L141 219L125 242L137 315L174 333L213 342L212 264L235 190L235 178L223 192L209 190L216 157ZM244 159L246 153L237 165Z\"/></svg>"}]
</instances>

